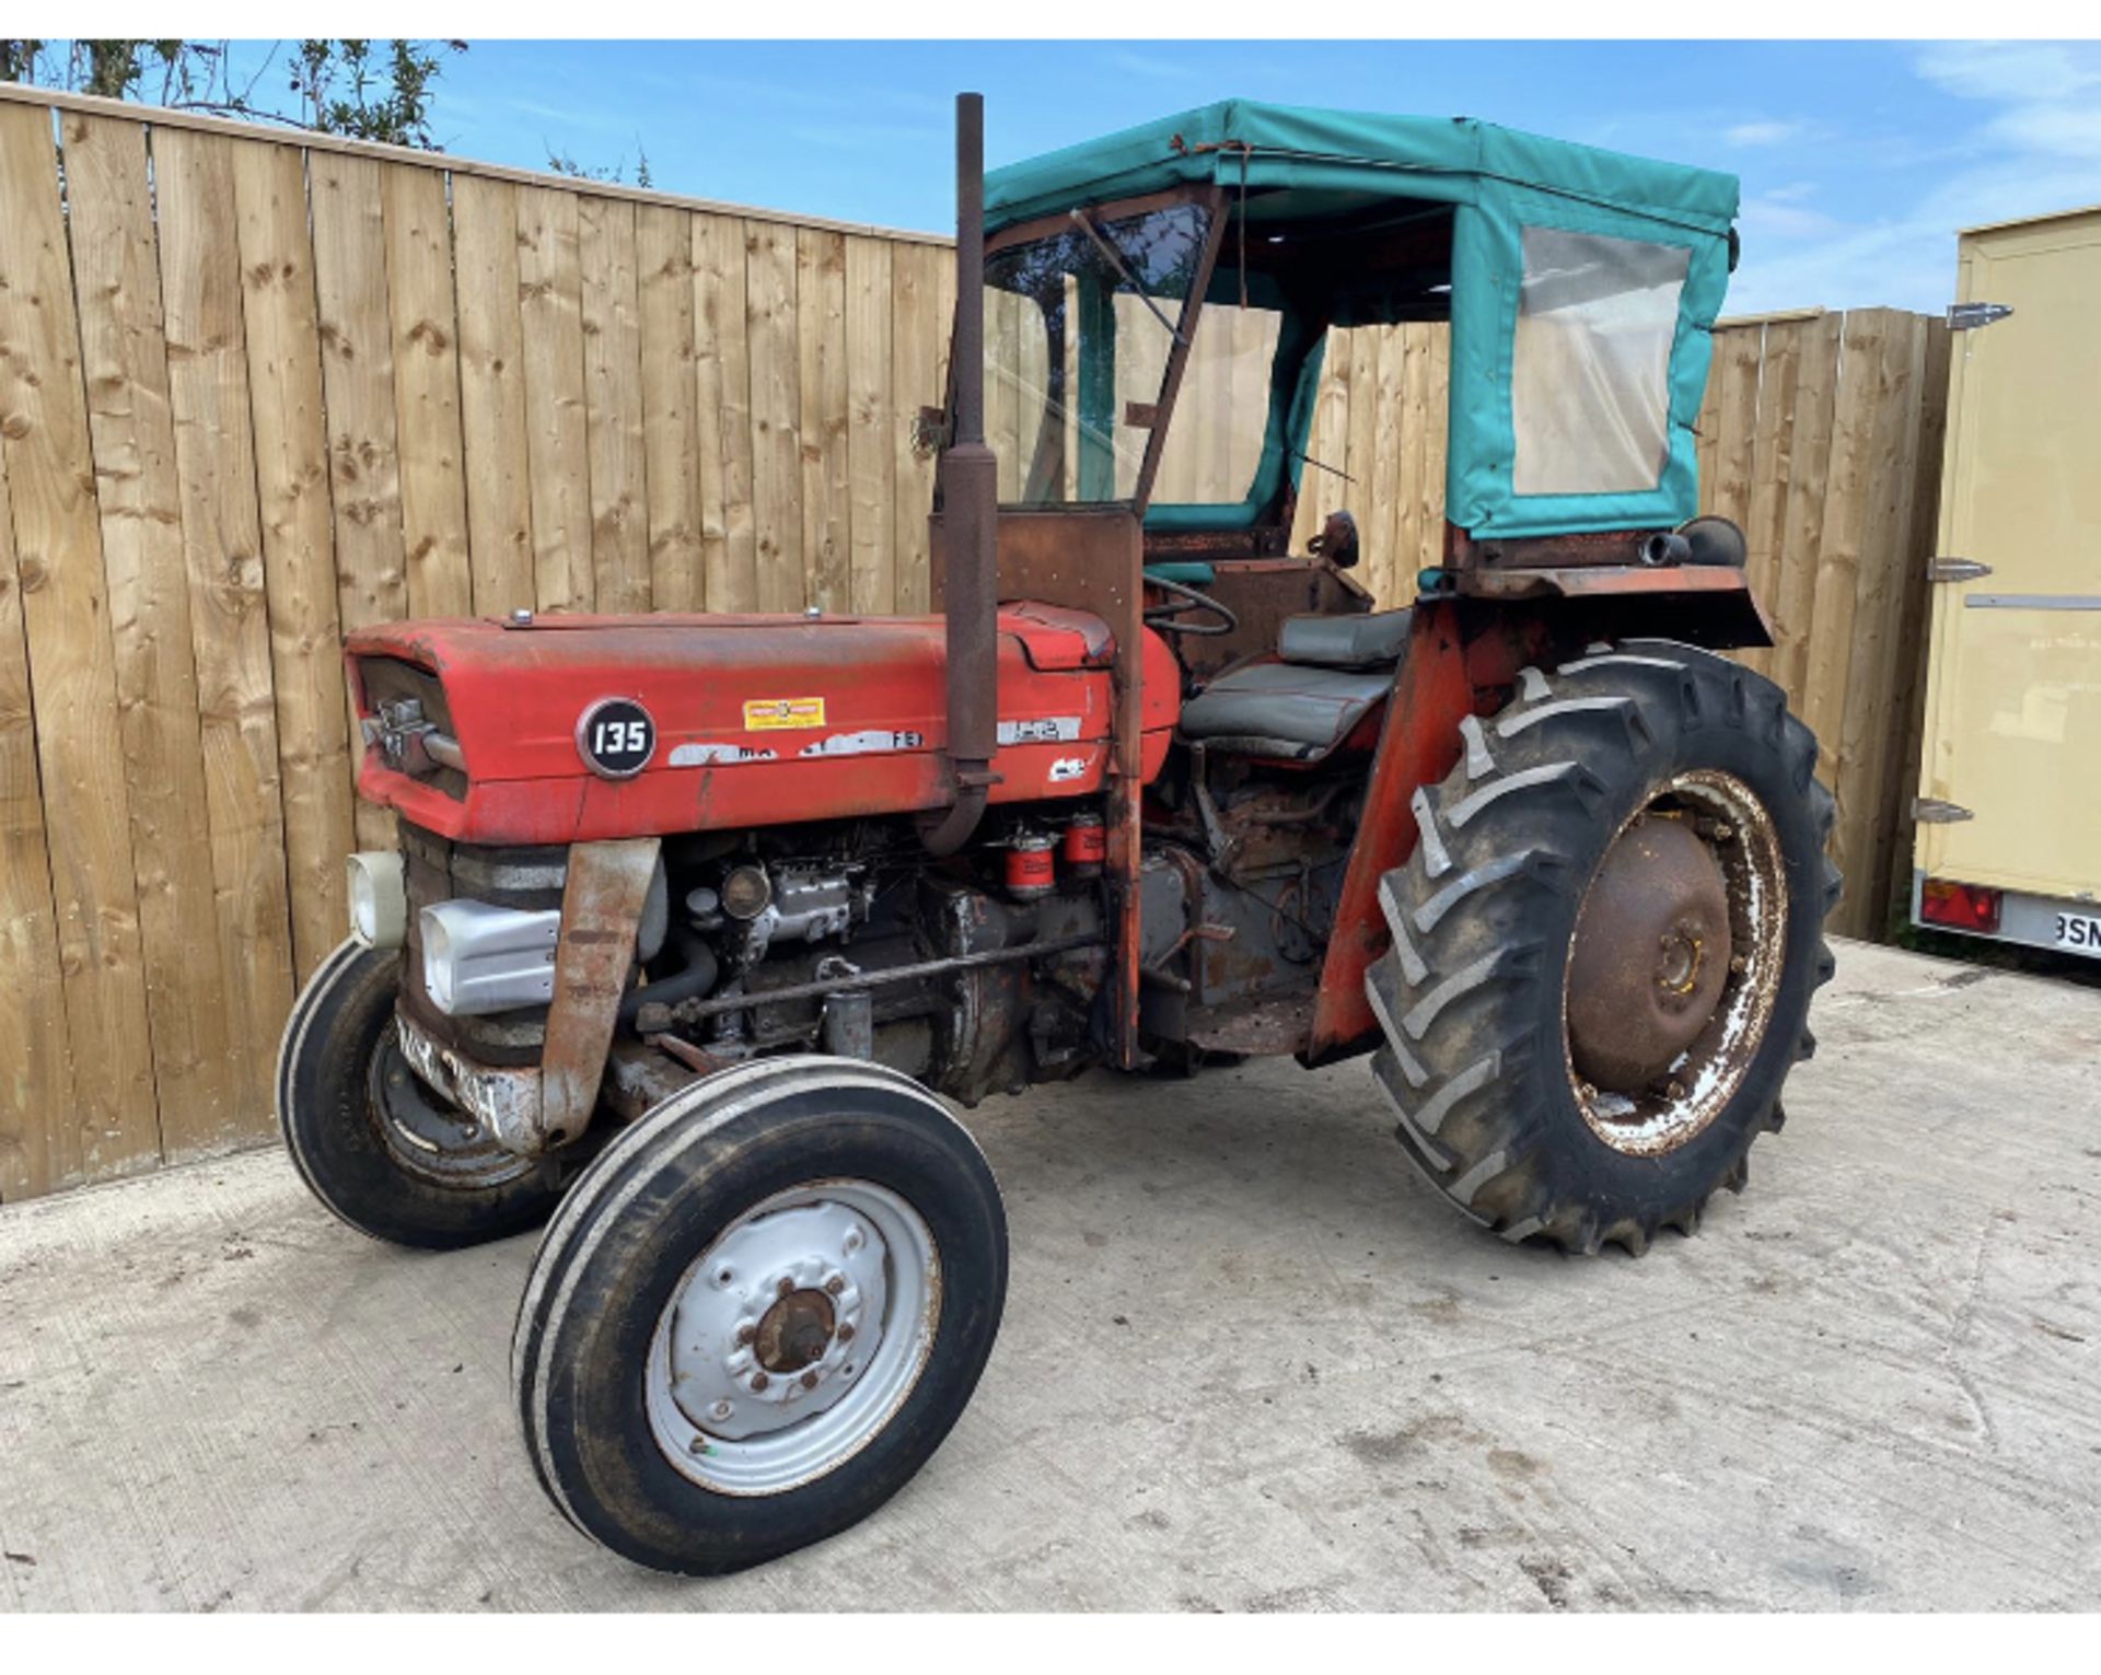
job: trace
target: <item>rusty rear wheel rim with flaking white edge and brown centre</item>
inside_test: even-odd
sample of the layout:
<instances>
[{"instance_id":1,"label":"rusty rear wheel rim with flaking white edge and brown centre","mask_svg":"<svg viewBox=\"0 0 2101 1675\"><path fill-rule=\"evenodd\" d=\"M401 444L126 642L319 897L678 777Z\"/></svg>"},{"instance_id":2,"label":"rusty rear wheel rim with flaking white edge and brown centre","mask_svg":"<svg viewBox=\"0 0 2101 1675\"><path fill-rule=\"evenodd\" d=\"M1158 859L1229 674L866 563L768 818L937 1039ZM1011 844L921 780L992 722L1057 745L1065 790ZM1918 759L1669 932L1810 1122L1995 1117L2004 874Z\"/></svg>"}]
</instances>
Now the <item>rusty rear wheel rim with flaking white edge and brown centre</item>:
<instances>
[{"instance_id":1,"label":"rusty rear wheel rim with flaking white edge and brown centre","mask_svg":"<svg viewBox=\"0 0 2101 1675\"><path fill-rule=\"evenodd\" d=\"M1674 826L1643 832L1647 822ZM1712 862L1714 885L1702 881L1698 862L1685 864L1687 834ZM1611 874L1626 868L1626 845L1643 843L1666 874L1662 897L1603 923ZM1616 1152L1651 1158L1704 1133L1765 1045L1786 958L1788 876L1765 803L1721 769L1672 776L1614 832L1569 939L1561 1047L1590 1133ZM1601 1017L1584 981L1584 973L1607 969L1622 973L1618 1023ZM1672 1023L1658 1021L1681 998L1700 1007L1696 1017L1679 1015L1683 1045L1670 1036Z\"/></svg>"}]
</instances>

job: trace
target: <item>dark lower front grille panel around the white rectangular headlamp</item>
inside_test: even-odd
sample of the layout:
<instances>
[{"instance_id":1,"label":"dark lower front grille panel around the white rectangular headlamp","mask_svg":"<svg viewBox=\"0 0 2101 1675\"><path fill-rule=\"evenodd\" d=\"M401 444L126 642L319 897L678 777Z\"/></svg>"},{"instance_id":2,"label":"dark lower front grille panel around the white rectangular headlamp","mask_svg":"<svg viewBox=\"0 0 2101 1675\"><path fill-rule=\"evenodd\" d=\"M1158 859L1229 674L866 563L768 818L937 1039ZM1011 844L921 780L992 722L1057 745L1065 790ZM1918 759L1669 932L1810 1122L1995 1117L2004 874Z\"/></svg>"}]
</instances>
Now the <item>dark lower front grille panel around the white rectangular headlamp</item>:
<instances>
[{"instance_id":1,"label":"dark lower front grille panel around the white rectangular headlamp","mask_svg":"<svg viewBox=\"0 0 2101 1675\"><path fill-rule=\"evenodd\" d=\"M435 1040L490 1066L536 1063L546 1040L546 1007L521 1007L483 1017L448 1017L422 988L422 910L437 902L487 902L496 908L546 912L561 908L569 851L555 845L450 843L422 826L401 824L401 870L408 885L408 967L401 1009Z\"/></svg>"}]
</instances>

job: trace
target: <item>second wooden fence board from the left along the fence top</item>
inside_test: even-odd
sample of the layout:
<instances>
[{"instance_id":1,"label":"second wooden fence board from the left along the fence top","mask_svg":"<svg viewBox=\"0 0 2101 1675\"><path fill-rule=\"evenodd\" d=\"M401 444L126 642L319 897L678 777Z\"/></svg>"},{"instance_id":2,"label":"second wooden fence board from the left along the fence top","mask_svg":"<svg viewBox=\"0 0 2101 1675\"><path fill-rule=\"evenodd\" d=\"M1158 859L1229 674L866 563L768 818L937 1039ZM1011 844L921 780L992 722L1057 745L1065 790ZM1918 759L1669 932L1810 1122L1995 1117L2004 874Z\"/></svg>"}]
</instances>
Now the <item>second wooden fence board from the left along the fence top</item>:
<instances>
[{"instance_id":1,"label":"second wooden fence board from the left along the fence top","mask_svg":"<svg viewBox=\"0 0 2101 1675\"><path fill-rule=\"evenodd\" d=\"M63 126L153 1087L160 1103L219 1131L235 1120L240 1089L225 1009L193 979L195 950L219 931L145 128L80 113Z\"/></svg>"}]
</instances>

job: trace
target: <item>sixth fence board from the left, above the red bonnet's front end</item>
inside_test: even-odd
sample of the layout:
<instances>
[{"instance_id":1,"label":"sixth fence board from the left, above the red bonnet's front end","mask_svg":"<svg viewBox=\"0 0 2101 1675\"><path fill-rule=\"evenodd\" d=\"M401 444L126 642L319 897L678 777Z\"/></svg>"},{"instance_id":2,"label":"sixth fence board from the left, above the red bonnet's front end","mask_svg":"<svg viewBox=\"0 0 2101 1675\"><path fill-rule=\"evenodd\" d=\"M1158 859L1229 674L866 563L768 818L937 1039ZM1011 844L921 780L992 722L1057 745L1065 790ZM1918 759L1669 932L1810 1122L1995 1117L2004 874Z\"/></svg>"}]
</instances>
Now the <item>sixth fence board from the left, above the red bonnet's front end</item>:
<instances>
[{"instance_id":1,"label":"sixth fence board from the left, above the red bonnet's front end","mask_svg":"<svg viewBox=\"0 0 2101 1675\"><path fill-rule=\"evenodd\" d=\"M387 168L387 324L393 334L401 561L412 616L466 616L466 439L460 433L460 326L452 298L445 177Z\"/></svg>"}]
</instances>

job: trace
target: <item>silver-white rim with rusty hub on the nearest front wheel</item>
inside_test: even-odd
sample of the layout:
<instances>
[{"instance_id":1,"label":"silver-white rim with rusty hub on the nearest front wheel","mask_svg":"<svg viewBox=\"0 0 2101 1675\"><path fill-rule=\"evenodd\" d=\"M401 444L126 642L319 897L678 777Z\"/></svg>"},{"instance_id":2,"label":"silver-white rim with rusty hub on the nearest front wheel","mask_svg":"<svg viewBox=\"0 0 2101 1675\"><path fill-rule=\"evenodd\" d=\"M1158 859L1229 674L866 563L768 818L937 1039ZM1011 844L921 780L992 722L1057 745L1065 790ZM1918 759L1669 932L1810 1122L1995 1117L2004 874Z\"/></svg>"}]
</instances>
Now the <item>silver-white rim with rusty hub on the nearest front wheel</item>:
<instances>
[{"instance_id":1,"label":"silver-white rim with rusty hub on the nearest front wheel","mask_svg":"<svg viewBox=\"0 0 2101 1675\"><path fill-rule=\"evenodd\" d=\"M719 1494L836 1471L918 1385L941 1316L924 1219L874 1181L811 1181L748 1208L685 1269L645 1374L664 1459Z\"/></svg>"}]
</instances>

